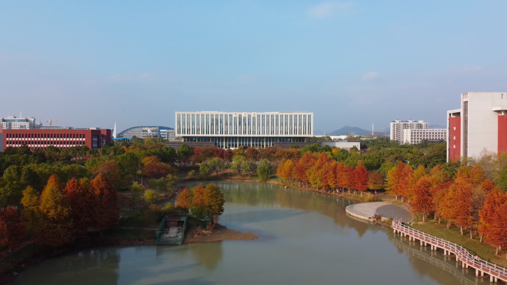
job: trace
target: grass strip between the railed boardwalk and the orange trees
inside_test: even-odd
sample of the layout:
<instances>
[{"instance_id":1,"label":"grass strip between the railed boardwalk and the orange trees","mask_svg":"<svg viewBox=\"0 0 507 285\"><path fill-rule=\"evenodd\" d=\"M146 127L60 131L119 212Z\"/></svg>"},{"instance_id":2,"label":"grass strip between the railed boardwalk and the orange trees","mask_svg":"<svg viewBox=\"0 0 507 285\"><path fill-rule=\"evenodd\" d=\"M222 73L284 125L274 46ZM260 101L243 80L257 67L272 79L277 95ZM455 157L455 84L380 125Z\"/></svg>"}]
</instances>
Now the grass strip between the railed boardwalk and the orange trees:
<instances>
[{"instance_id":1,"label":"grass strip between the railed boardwalk and the orange trees","mask_svg":"<svg viewBox=\"0 0 507 285\"><path fill-rule=\"evenodd\" d=\"M500 266L507 267L507 259L505 259L505 251L500 253L500 256L503 258L495 256L496 250L494 247L491 247L487 243L479 242L479 236L477 235L474 235L474 239L470 239L469 232L464 232L464 235L461 235L458 227L452 227L450 229L447 229L447 224L445 222L439 224L437 221L428 221L425 223L415 224L414 228L423 231L425 233L457 243L467 248L468 251L477 254L482 259L486 259L492 263L496 263Z\"/></svg>"}]
</instances>

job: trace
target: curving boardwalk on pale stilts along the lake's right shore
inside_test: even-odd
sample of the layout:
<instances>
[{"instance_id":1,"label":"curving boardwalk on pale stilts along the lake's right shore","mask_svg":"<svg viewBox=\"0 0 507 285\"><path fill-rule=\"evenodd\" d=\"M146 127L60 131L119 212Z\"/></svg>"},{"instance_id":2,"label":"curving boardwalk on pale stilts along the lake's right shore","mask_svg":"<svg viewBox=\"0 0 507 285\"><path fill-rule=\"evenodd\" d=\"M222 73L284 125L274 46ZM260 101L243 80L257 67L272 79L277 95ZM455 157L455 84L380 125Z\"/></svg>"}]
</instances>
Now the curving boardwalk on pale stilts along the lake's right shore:
<instances>
[{"instance_id":1,"label":"curving boardwalk on pale stilts along the lake's right shore","mask_svg":"<svg viewBox=\"0 0 507 285\"><path fill-rule=\"evenodd\" d=\"M456 255L456 262L461 262L462 268L472 267L476 270L476 276L489 275L490 282L503 281L507 283L507 269L496 264L492 264L477 256L470 254L466 248L456 243L438 238L421 232L409 226L406 226L400 220L392 221L394 233L400 233L402 236L408 236L409 240L419 240L421 245L430 245L431 250L436 251L438 248L444 250L444 255Z\"/></svg>"}]
</instances>

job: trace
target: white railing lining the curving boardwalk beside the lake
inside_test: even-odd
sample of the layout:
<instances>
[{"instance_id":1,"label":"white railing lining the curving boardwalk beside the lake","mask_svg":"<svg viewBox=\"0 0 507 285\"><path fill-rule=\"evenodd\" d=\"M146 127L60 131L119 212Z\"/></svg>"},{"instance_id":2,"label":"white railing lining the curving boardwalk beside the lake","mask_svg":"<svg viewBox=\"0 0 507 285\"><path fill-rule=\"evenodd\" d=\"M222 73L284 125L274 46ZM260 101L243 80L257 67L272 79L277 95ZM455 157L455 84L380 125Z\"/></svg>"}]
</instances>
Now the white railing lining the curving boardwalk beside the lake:
<instances>
[{"instance_id":1,"label":"white railing lining the curving boardwalk beside the lake","mask_svg":"<svg viewBox=\"0 0 507 285\"><path fill-rule=\"evenodd\" d=\"M429 244L443 248L444 250L450 251L455 254L463 263L468 264L468 266L472 266L473 268L484 271L491 276L507 281L507 268L503 268L496 264L490 263L487 260L483 260L477 256L474 256L461 245L408 227L404 225L402 221L397 219L392 221L392 228Z\"/></svg>"}]
</instances>

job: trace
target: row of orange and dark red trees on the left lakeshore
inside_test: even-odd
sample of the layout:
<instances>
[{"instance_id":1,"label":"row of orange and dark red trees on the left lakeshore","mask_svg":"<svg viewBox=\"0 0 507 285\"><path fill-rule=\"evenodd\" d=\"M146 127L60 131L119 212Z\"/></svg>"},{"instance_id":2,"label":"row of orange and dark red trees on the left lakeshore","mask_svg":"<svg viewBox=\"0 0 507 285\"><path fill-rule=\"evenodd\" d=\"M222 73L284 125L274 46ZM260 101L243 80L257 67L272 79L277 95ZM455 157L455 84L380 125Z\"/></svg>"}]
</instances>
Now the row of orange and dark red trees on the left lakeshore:
<instances>
[{"instance_id":1,"label":"row of orange and dark red trees on the left lakeshore","mask_svg":"<svg viewBox=\"0 0 507 285\"><path fill-rule=\"evenodd\" d=\"M26 234L40 245L61 246L119 221L117 193L102 174L91 181L73 177L64 186L53 174L42 193L26 187L21 204L21 212L11 205L0 210L0 247L13 246Z\"/></svg>"}]
</instances>

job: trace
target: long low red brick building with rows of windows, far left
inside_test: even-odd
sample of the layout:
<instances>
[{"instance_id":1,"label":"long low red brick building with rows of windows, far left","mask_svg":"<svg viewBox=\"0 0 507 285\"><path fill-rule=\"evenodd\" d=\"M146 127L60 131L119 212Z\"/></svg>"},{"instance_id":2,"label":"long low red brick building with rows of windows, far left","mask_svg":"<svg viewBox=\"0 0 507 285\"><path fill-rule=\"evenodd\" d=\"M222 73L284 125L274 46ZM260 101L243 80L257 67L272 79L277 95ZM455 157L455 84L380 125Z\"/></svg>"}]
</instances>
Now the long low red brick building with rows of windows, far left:
<instances>
[{"instance_id":1,"label":"long low red brick building with rows of windows, far left","mask_svg":"<svg viewBox=\"0 0 507 285\"><path fill-rule=\"evenodd\" d=\"M111 129L0 129L0 151L22 145L31 150L48 146L59 149L87 146L94 150L110 144L111 140Z\"/></svg>"}]
</instances>

